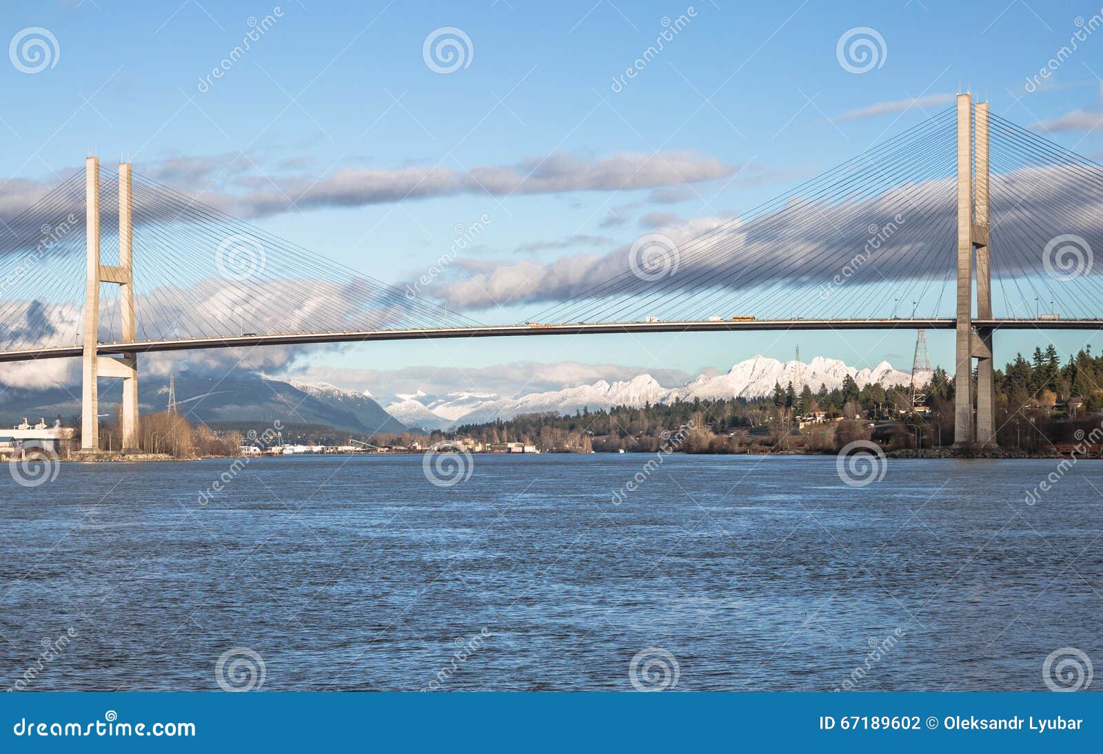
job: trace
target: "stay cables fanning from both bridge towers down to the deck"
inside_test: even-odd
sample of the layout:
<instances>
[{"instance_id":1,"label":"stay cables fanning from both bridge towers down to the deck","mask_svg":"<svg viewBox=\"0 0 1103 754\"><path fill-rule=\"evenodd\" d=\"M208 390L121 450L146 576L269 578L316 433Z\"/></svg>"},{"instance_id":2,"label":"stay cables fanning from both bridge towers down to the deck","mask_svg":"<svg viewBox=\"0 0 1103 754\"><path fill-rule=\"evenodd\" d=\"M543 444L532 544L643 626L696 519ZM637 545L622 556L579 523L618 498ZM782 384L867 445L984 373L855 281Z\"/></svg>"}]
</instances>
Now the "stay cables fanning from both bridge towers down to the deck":
<instances>
[{"instance_id":1,"label":"stay cables fanning from both bridge towers down to the deck","mask_svg":"<svg viewBox=\"0 0 1103 754\"><path fill-rule=\"evenodd\" d=\"M1099 316L1103 166L998 116L989 134L994 316ZM953 317L955 144L949 108L695 238L625 250L533 319ZM84 179L0 219L0 351L81 343ZM118 186L101 168L104 265ZM148 177L132 193L139 341L476 324ZM100 342L121 340L118 292L101 287Z\"/></svg>"}]
</instances>

